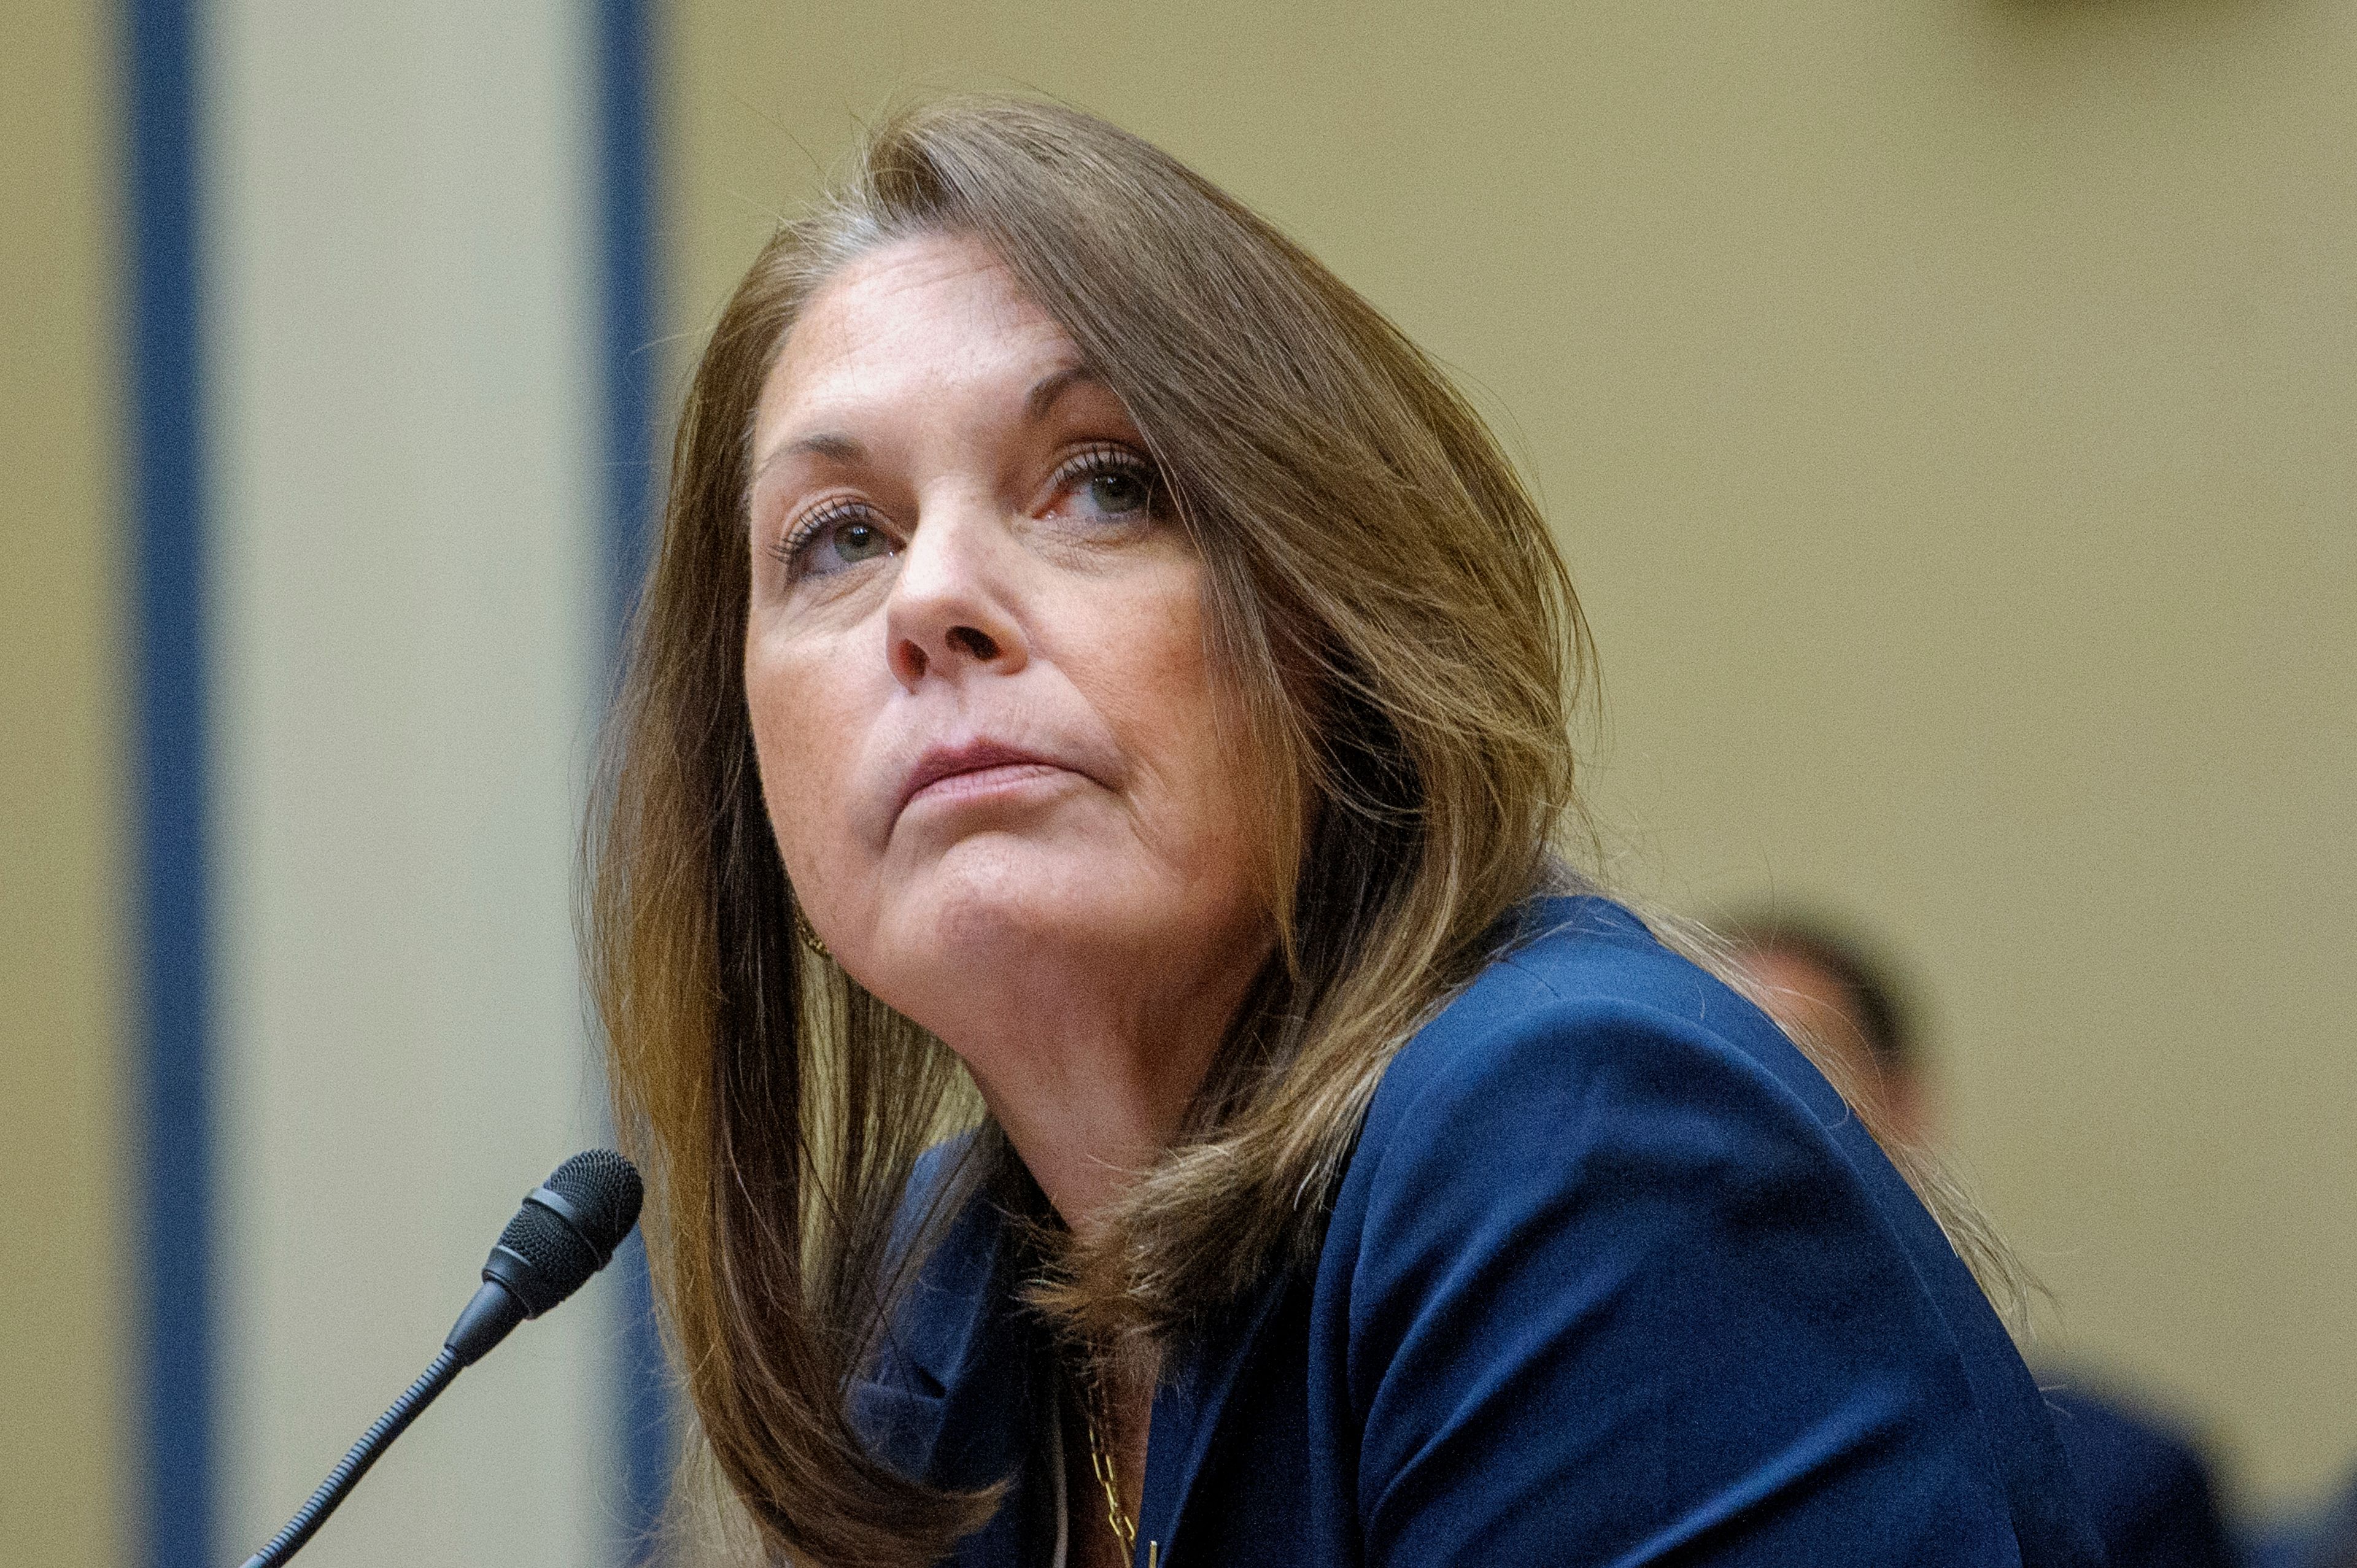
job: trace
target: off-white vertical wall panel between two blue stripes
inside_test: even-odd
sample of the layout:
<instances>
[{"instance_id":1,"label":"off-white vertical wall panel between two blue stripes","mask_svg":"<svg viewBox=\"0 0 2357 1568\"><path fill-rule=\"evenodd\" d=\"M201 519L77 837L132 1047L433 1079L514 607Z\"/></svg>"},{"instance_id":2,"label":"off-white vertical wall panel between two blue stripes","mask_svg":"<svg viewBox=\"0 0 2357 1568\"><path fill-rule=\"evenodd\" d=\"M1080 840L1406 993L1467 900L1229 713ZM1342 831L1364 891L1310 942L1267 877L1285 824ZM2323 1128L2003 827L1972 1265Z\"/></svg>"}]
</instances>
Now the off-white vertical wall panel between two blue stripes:
<instances>
[{"instance_id":1,"label":"off-white vertical wall panel between two blue stripes","mask_svg":"<svg viewBox=\"0 0 2357 1568\"><path fill-rule=\"evenodd\" d=\"M212 7L226 1551L596 1139L568 877L599 646L587 7ZM306 1563L608 1554L613 1283Z\"/></svg>"}]
</instances>

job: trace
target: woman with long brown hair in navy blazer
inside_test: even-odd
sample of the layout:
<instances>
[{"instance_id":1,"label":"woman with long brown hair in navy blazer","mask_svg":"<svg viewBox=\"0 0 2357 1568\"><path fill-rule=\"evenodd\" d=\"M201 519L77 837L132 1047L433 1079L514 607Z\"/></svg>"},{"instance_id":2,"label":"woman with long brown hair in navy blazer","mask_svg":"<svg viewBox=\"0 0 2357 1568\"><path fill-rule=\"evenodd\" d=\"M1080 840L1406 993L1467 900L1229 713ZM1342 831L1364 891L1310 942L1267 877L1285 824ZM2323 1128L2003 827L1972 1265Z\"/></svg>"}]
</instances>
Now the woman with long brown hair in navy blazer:
<instances>
[{"instance_id":1,"label":"woman with long brown hair in navy blazer","mask_svg":"<svg viewBox=\"0 0 2357 1568\"><path fill-rule=\"evenodd\" d=\"M1134 137L940 104L778 233L592 889L761 1554L2088 1561L1940 1224L1577 896L1582 651L1445 377Z\"/></svg>"}]
</instances>

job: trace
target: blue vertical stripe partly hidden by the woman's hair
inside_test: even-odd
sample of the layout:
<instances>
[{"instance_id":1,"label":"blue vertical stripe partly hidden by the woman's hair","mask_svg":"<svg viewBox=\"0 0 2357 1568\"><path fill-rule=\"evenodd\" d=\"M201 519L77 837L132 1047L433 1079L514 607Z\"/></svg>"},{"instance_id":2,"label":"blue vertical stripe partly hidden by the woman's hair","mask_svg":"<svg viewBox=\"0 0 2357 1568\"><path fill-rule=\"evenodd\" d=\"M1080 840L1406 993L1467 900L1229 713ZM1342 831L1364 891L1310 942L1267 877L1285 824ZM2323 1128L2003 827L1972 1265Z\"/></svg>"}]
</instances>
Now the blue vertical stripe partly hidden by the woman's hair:
<instances>
[{"instance_id":1,"label":"blue vertical stripe partly hidden by the woman's hair","mask_svg":"<svg viewBox=\"0 0 2357 1568\"><path fill-rule=\"evenodd\" d=\"M606 627L610 646L636 601L655 533L655 139L653 0L599 0L599 250L606 382ZM672 1379L655 1330L646 1252L615 1259L622 1276L622 1471L627 1556L651 1554L672 1481Z\"/></svg>"}]
</instances>

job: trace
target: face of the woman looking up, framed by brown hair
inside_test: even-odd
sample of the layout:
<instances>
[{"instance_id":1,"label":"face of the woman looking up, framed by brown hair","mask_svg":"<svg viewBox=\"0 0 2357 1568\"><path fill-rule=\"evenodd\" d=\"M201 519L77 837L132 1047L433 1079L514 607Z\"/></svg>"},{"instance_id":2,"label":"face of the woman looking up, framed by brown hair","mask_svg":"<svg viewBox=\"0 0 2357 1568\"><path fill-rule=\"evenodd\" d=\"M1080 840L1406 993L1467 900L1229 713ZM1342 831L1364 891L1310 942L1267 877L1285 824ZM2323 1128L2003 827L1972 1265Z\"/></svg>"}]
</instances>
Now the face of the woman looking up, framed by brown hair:
<instances>
[{"instance_id":1,"label":"face of the woman looking up, framed by brown hair","mask_svg":"<svg viewBox=\"0 0 2357 1568\"><path fill-rule=\"evenodd\" d=\"M1256 967L1204 566L1120 398L990 252L903 241L832 278L752 457L745 691L834 957L950 1045L1056 1007L1058 976L1127 988L1143 1028Z\"/></svg>"}]
</instances>

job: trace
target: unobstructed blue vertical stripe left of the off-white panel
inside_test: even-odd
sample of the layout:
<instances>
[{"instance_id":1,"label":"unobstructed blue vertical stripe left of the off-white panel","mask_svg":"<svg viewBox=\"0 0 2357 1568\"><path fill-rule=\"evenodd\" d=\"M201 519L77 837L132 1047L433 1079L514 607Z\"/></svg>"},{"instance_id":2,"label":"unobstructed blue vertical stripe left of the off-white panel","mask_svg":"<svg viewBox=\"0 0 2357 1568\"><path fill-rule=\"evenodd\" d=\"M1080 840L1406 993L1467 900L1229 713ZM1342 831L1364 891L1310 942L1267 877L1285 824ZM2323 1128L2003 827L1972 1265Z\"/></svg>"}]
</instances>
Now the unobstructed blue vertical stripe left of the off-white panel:
<instances>
[{"instance_id":1,"label":"unobstructed blue vertical stripe left of the off-white panel","mask_svg":"<svg viewBox=\"0 0 2357 1568\"><path fill-rule=\"evenodd\" d=\"M130 0L125 137L137 582L139 1327L146 1561L212 1568L212 908L193 0Z\"/></svg>"}]
</instances>

